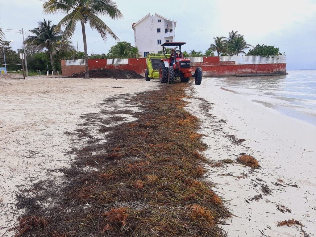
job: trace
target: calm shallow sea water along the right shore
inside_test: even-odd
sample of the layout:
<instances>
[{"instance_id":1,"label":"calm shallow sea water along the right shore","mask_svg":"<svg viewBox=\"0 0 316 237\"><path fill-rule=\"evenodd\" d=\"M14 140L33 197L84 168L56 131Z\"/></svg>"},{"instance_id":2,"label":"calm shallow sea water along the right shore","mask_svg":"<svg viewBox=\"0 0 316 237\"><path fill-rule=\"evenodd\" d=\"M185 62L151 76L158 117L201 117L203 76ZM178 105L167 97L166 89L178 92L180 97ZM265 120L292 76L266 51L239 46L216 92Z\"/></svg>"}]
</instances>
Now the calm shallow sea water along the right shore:
<instances>
[{"instance_id":1,"label":"calm shallow sea water along the right shore","mask_svg":"<svg viewBox=\"0 0 316 237\"><path fill-rule=\"evenodd\" d=\"M216 86L316 126L316 70L288 75L213 78Z\"/></svg>"}]
</instances>

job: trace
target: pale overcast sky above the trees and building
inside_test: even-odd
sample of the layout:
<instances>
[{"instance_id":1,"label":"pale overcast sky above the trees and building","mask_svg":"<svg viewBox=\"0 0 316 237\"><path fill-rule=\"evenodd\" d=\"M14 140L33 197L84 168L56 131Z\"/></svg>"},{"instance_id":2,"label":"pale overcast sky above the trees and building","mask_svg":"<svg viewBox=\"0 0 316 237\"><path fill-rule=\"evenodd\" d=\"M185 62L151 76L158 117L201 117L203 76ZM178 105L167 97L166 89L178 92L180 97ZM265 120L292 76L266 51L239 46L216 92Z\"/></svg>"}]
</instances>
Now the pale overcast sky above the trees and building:
<instances>
[{"instance_id":1,"label":"pale overcast sky above the trees and building","mask_svg":"<svg viewBox=\"0 0 316 237\"><path fill-rule=\"evenodd\" d=\"M248 44L273 45L287 55L287 70L316 69L316 0L114 0L124 19L113 21L101 17L121 41L133 44L132 23L155 13L177 21L175 38L187 42L183 50L204 52L213 37L225 36L232 30L244 35ZM43 14L40 0L0 0L0 28L27 30L38 21L52 20L57 24L62 15ZM7 32L13 49L21 48L22 35ZM107 53L115 41L106 42L86 27L88 54ZM72 42L83 51L82 32L77 26Z\"/></svg>"}]
</instances>

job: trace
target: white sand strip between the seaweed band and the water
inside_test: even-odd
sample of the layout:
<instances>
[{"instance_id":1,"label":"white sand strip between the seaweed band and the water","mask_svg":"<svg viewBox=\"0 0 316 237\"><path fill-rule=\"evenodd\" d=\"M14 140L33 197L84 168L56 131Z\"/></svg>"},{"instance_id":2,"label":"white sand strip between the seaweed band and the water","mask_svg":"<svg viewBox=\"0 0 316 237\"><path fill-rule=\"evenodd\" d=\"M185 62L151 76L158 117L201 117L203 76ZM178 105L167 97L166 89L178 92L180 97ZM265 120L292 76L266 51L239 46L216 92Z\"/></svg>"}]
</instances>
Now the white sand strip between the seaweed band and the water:
<instances>
[{"instance_id":1,"label":"white sand strip between the seaweed band and the water","mask_svg":"<svg viewBox=\"0 0 316 237\"><path fill-rule=\"evenodd\" d=\"M212 122L197 109L200 101L190 100L189 110L203 121L201 133L209 145L206 155L215 160L236 159L236 155L245 152L257 158L261 165L252 174L249 168L236 164L210 168L214 172L211 180L219 184L220 195L230 201L229 207L237 216L223 226L228 236L262 236L260 231L265 236L303 236L295 227L277 227L278 221L292 218L304 224L307 234L316 235L316 127L222 90L211 78L193 87L195 96L214 103L210 113L215 120L228 120L227 124ZM239 146L232 145L223 137L225 133L246 141ZM236 179L242 172L249 177ZM229 173L233 176L223 175ZM272 184L277 179L282 179L286 187ZM256 188L255 183L259 184ZM269 186L271 195L247 204L246 199L260 193L261 184ZM299 188L287 184L297 184ZM282 213L276 204L283 204L292 212Z\"/></svg>"}]
</instances>

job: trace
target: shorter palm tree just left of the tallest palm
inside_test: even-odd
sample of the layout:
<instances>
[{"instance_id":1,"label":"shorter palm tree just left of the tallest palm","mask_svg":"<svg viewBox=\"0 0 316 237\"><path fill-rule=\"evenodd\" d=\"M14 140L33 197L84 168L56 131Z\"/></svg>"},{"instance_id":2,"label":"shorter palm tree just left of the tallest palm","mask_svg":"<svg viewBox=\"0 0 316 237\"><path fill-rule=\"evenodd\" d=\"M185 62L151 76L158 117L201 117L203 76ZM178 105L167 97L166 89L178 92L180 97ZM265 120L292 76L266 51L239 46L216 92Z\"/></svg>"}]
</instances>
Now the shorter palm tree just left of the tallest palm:
<instances>
[{"instance_id":1,"label":"shorter palm tree just left of the tallest palm","mask_svg":"<svg viewBox=\"0 0 316 237\"><path fill-rule=\"evenodd\" d=\"M36 50L46 48L51 59L53 73L55 74L52 55L55 55L57 52L57 42L62 39L63 32L56 30L56 25L52 25L51 23L52 21L46 21L45 19L44 21L39 21L36 28L29 30L33 35L28 36L24 43Z\"/></svg>"}]
</instances>

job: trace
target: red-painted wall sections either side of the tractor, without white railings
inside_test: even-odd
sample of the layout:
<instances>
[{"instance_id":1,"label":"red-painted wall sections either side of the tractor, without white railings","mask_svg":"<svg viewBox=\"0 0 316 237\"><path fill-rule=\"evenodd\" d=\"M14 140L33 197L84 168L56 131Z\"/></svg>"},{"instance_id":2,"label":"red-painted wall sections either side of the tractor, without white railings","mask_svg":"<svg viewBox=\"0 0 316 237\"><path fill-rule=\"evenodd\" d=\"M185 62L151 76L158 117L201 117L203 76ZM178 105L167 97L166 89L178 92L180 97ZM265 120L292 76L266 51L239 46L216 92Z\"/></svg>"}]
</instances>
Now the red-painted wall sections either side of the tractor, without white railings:
<instances>
[{"instance_id":1,"label":"red-painted wall sections either side of the tractor, without white railings","mask_svg":"<svg viewBox=\"0 0 316 237\"><path fill-rule=\"evenodd\" d=\"M219 57L204 57L203 63L191 63L193 71L202 67L203 76L247 76L247 75L273 75L285 74L286 64L243 64L236 65L234 61L220 62ZM129 58L128 64L108 65L106 59L89 59L89 69L99 68L133 70L144 75L147 68L146 58ZM76 72L84 71L85 65L65 66L61 60L63 75L70 76Z\"/></svg>"}]
</instances>

